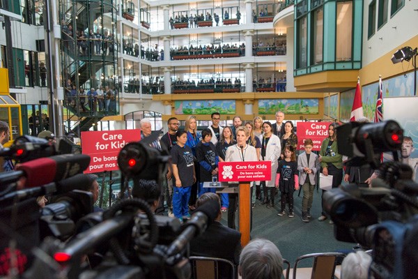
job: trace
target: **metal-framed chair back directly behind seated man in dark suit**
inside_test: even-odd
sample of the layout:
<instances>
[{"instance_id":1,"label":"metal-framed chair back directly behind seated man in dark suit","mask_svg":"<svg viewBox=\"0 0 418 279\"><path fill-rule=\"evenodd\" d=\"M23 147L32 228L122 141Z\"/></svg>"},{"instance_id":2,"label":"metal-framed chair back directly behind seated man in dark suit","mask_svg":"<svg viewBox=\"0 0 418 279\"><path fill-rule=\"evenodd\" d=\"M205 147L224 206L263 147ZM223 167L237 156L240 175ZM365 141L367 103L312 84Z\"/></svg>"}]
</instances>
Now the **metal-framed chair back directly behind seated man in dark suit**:
<instances>
[{"instance_id":1,"label":"metal-framed chair back directly behind seated man in dark suit","mask_svg":"<svg viewBox=\"0 0 418 279\"><path fill-rule=\"evenodd\" d=\"M235 279L235 265L227 259L217 257L189 257L192 264L192 278L194 279L217 279L219 263L231 267L231 279Z\"/></svg>"}]
</instances>

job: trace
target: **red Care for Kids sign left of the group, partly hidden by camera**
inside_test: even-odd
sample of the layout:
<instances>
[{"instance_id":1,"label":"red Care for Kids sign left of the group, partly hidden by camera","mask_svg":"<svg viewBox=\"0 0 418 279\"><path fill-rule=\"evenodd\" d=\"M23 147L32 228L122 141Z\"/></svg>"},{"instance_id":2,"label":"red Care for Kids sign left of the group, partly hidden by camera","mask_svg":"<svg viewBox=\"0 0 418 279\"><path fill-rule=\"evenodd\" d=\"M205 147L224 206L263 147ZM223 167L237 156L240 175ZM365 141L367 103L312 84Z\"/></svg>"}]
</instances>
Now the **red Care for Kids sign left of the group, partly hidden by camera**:
<instances>
[{"instance_id":1,"label":"red Care for Kids sign left of the group, partly hidden by camera","mask_svg":"<svg viewBox=\"0 0 418 279\"><path fill-rule=\"evenodd\" d=\"M82 152L91 161L85 174L118 169L119 151L129 142L139 142L141 130L111 130L82 132Z\"/></svg>"}]
</instances>

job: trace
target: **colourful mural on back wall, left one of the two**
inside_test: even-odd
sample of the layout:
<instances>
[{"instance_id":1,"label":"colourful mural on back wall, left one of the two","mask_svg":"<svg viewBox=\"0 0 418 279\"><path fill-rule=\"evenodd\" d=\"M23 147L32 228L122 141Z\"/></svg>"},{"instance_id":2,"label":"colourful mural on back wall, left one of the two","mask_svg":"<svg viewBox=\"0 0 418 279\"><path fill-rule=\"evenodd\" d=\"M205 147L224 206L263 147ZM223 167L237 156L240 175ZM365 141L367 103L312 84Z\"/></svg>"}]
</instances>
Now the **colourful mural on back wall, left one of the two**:
<instances>
[{"instance_id":1,"label":"colourful mural on back wall, left one of the two","mask_svg":"<svg viewBox=\"0 0 418 279\"><path fill-rule=\"evenodd\" d=\"M174 114L235 114L235 100L176 100Z\"/></svg>"}]
</instances>

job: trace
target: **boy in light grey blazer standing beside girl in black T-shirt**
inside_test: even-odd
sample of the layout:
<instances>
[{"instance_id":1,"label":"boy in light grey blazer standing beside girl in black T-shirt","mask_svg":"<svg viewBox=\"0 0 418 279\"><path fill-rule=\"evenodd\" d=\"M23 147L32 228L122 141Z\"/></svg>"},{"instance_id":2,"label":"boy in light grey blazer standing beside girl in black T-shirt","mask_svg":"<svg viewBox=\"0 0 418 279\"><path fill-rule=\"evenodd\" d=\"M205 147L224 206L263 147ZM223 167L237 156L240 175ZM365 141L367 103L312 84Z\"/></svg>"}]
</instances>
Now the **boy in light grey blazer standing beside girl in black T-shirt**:
<instances>
[{"instance_id":1,"label":"boy in light grey blazer standing beside girl in black T-shirt","mask_svg":"<svg viewBox=\"0 0 418 279\"><path fill-rule=\"evenodd\" d=\"M315 175L320 169L318 155L312 153L314 142L311 139L304 141L304 153L297 157L297 170L299 170L299 183L303 190L302 221L309 222L311 206L314 200Z\"/></svg>"}]
</instances>

